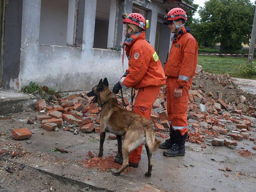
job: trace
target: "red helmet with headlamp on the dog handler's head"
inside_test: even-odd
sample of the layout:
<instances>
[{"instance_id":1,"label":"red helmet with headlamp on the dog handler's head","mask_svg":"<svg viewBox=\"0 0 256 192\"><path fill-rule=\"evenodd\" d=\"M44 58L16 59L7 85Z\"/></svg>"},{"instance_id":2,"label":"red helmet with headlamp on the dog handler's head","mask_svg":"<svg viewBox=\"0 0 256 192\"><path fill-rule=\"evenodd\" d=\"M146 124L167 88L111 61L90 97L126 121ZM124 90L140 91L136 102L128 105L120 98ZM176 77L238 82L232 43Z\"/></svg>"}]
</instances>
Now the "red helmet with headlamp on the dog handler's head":
<instances>
[{"instance_id":1,"label":"red helmet with headlamp on the dog handler's head","mask_svg":"<svg viewBox=\"0 0 256 192\"><path fill-rule=\"evenodd\" d=\"M131 13L127 15L126 13L122 14L123 23L132 23L137 26L139 26L143 31L148 28L148 20L145 20L145 18L140 13Z\"/></svg>"}]
</instances>

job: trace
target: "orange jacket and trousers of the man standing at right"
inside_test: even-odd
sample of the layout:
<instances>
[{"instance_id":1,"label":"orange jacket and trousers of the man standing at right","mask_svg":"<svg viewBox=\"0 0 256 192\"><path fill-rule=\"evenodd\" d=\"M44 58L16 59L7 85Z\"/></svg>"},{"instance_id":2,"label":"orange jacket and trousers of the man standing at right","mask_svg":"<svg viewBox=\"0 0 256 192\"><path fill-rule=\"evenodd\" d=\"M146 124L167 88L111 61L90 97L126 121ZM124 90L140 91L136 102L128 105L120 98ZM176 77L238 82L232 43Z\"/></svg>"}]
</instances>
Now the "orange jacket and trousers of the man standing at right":
<instances>
[{"instance_id":1,"label":"orange jacket and trousers of the man standing at right","mask_svg":"<svg viewBox=\"0 0 256 192\"><path fill-rule=\"evenodd\" d=\"M188 132L187 108L188 90L195 76L198 44L188 33L188 27L182 27L172 42L169 58L164 65L166 79L166 101L168 121L173 130L180 130L181 135ZM182 89L182 97L174 97L174 89Z\"/></svg>"}]
</instances>

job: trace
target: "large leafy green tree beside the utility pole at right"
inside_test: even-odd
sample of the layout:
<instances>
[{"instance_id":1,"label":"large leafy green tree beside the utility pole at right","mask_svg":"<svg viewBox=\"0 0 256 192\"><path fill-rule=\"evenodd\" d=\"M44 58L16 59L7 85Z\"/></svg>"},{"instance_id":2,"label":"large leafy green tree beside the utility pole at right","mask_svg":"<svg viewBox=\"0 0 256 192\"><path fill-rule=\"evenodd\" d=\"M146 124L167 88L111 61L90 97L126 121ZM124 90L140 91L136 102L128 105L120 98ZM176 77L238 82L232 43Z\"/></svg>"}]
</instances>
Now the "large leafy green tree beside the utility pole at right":
<instances>
[{"instance_id":1,"label":"large leafy green tree beside the utility pole at right","mask_svg":"<svg viewBox=\"0 0 256 192\"><path fill-rule=\"evenodd\" d=\"M249 0L209 0L200 7L201 37L220 43L220 52L233 52L248 44L254 6Z\"/></svg>"}]
</instances>

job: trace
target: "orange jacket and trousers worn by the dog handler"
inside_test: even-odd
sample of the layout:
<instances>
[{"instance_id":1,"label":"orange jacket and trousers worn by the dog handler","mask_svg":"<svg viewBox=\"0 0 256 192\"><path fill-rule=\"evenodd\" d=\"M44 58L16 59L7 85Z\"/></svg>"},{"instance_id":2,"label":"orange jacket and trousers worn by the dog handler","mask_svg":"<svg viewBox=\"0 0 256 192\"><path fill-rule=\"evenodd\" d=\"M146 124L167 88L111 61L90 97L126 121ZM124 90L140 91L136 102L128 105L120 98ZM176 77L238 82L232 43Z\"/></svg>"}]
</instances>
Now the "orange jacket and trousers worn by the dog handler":
<instances>
[{"instance_id":1,"label":"orange jacket and trousers worn by the dog handler","mask_svg":"<svg viewBox=\"0 0 256 192\"><path fill-rule=\"evenodd\" d=\"M165 84L164 69L155 49L146 41L145 32L132 35L124 44L129 74L121 78L120 84L124 90L139 89L133 112L150 119L153 103ZM130 153L129 162L139 164L141 152L142 145Z\"/></svg>"}]
</instances>

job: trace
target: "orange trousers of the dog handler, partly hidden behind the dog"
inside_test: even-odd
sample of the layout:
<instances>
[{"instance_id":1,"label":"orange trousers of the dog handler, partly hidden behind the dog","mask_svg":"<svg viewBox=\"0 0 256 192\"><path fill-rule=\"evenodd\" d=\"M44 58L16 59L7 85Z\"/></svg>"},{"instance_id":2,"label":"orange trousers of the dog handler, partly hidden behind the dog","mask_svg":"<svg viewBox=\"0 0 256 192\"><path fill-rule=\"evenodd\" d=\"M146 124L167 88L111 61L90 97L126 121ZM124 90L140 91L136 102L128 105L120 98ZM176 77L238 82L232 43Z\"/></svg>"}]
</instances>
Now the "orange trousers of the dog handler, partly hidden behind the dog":
<instances>
[{"instance_id":1,"label":"orange trousers of the dog handler, partly hidden behind the dog","mask_svg":"<svg viewBox=\"0 0 256 192\"><path fill-rule=\"evenodd\" d=\"M133 112L141 116L144 116L149 120L153 103L156 101L156 98L159 95L160 90L161 86L144 87L143 90L140 89L135 99ZM135 164L140 163L142 148L143 146L141 145L138 148L131 151L129 155L129 162Z\"/></svg>"}]
</instances>

